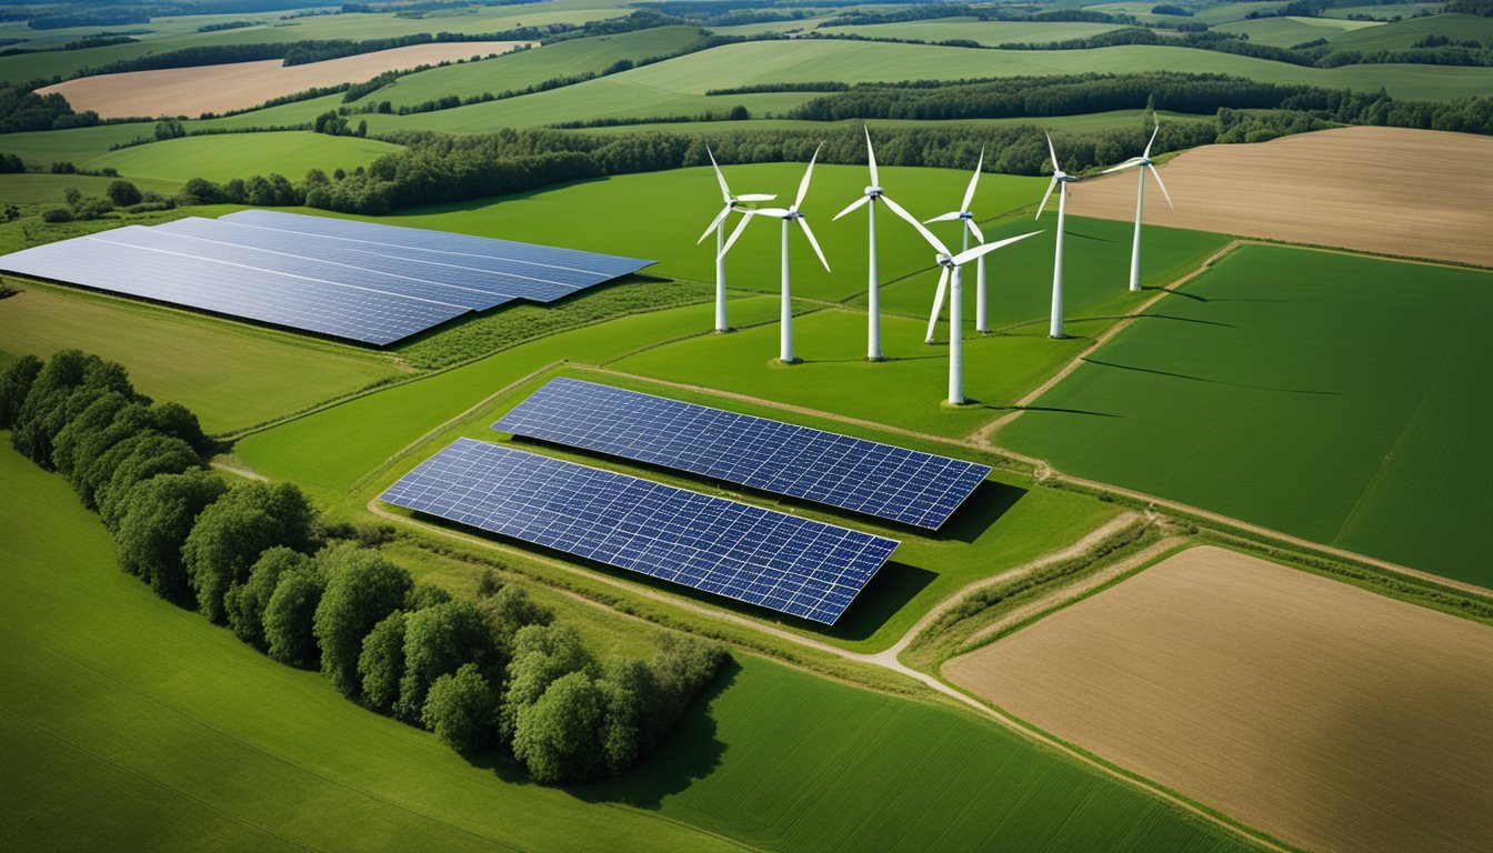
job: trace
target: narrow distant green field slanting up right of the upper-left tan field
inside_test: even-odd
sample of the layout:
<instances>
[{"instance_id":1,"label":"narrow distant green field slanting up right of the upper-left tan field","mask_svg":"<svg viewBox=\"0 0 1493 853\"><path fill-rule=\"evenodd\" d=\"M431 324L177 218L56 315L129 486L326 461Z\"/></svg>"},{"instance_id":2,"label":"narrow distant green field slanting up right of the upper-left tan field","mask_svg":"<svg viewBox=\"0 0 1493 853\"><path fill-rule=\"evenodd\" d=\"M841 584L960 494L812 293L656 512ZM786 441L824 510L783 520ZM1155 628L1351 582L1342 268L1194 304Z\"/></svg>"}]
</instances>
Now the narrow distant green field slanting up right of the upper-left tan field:
<instances>
[{"instance_id":1,"label":"narrow distant green field slanting up right of the upper-left tan field","mask_svg":"<svg viewBox=\"0 0 1493 853\"><path fill-rule=\"evenodd\" d=\"M354 106L391 102L414 106L443 96L500 94L561 76L602 72L621 60L639 61L676 52L702 39L699 27L657 27L617 36L555 42L479 63L430 69L399 78Z\"/></svg>"}]
</instances>

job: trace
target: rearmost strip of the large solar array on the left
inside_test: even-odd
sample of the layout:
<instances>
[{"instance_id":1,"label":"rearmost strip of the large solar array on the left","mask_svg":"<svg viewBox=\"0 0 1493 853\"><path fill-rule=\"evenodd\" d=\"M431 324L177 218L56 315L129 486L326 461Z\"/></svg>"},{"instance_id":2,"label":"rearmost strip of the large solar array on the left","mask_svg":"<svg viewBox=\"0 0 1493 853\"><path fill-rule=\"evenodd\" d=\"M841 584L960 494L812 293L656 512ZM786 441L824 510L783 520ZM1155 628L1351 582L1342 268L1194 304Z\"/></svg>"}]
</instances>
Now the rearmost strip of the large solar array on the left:
<instances>
[{"instance_id":1,"label":"rearmost strip of the large solar array on the left","mask_svg":"<svg viewBox=\"0 0 1493 853\"><path fill-rule=\"evenodd\" d=\"M222 217L224 221L320 235L345 241L358 241L382 246L379 251L403 249L415 252L437 252L458 257L484 257L503 261L512 272L548 278L572 287L590 287L600 281L638 272L654 261L620 255L606 255L579 249L520 244L494 238L452 235L358 220L331 217L308 217L282 214L279 211L240 211Z\"/></svg>"}]
</instances>

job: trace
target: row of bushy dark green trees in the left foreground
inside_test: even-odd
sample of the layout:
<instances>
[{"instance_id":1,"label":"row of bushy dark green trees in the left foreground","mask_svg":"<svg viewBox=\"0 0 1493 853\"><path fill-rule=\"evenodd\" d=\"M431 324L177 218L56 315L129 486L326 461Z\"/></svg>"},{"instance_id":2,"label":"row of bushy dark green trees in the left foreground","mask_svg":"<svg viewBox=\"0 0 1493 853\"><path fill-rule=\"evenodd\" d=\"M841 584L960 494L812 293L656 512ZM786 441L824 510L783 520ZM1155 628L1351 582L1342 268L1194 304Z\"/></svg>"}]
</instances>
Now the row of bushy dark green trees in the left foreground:
<instances>
[{"instance_id":1,"label":"row of bushy dark green trees in the left foreground","mask_svg":"<svg viewBox=\"0 0 1493 853\"><path fill-rule=\"evenodd\" d=\"M648 659L603 659L491 571L475 598L417 583L378 550L391 529L330 524L290 483L227 483L203 465L211 441L190 409L152 402L97 356L12 362L0 429L72 484L119 568L158 596L540 783L626 771L726 660L721 645L672 633Z\"/></svg>"}]
</instances>

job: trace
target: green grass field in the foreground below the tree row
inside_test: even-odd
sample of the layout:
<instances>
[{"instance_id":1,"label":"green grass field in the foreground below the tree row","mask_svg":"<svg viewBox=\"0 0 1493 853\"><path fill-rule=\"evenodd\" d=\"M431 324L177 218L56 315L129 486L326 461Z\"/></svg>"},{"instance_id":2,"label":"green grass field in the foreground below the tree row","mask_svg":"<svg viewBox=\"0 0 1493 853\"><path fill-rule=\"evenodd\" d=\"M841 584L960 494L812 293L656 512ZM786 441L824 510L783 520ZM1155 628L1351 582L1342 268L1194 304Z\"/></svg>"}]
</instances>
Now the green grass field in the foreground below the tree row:
<instances>
[{"instance_id":1,"label":"green grass field in the foreground below the tree row","mask_svg":"<svg viewBox=\"0 0 1493 853\"><path fill-rule=\"evenodd\" d=\"M155 599L66 483L4 444L0 816L18 847L1244 849L993 723L757 659L623 780L521 783Z\"/></svg>"}]
</instances>

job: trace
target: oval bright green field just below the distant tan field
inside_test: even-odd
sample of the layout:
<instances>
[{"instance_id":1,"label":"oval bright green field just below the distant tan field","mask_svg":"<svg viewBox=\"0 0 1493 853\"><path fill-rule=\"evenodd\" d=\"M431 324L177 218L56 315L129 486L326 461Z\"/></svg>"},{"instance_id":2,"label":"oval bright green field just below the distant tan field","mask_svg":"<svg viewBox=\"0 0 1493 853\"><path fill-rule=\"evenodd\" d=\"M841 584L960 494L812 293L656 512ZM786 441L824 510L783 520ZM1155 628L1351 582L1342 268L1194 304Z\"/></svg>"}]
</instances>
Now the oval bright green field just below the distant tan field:
<instances>
[{"instance_id":1,"label":"oval bright green field just below the distant tan field","mask_svg":"<svg viewBox=\"0 0 1493 853\"><path fill-rule=\"evenodd\" d=\"M300 181L311 169L330 173L340 167L351 172L396 151L400 151L399 145L376 139L327 136L309 130L216 133L121 148L94 157L87 166L164 181L228 181L272 172Z\"/></svg>"}]
</instances>

